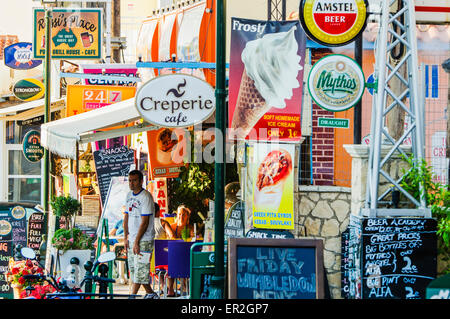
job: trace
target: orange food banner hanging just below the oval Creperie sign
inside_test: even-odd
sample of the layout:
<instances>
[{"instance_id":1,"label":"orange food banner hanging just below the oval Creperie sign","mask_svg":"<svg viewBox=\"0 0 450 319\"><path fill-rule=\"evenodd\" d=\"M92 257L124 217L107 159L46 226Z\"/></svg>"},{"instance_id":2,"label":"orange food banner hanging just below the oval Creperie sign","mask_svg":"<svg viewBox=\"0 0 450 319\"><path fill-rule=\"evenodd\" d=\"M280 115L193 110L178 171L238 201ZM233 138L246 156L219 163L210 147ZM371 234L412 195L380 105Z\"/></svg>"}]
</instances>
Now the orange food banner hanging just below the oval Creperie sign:
<instances>
[{"instance_id":1,"label":"orange food banner hanging just below the oval Creperie sign","mask_svg":"<svg viewBox=\"0 0 450 319\"><path fill-rule=\"evenodd\" d=\"M178 177L187 146L184 133L173 128L147 131L150 179Z\"/></svg>"}]
</instances>

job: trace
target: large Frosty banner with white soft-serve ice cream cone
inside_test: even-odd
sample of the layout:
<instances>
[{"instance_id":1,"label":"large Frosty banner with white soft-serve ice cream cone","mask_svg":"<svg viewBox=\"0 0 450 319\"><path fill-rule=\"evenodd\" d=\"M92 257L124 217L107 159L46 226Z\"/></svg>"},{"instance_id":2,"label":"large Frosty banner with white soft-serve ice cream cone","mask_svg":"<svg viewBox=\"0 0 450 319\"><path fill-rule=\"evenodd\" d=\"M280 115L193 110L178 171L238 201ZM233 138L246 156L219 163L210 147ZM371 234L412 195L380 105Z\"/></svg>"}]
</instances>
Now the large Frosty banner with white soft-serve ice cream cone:
<instances>
[{"instance_id":1,"label":"large Frosty banner with white soft-serve ice cream cone","mask_svg":"<svg viewBox=\"0 0 450 319\"><path fill-rule=\"evenodd\" d=\"M230 139L300 140L305 48L299 21L232 18Z\"/></svg>"}]
</instances>

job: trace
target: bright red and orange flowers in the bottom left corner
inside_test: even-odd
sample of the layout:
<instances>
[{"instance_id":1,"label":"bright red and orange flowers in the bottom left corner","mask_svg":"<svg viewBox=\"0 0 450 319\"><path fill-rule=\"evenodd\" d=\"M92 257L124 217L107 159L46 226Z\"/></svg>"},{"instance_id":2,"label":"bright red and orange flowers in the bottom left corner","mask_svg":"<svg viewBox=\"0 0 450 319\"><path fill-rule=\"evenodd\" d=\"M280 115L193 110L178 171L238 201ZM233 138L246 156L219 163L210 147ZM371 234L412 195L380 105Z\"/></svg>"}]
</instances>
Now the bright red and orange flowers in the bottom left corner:
<instances>
[{"instance_id":1,"label":"bright red and orange flowers in the bottom left corner","mask_svg":"<svg viewBox=\"0 0 450 319\"><path fill-rule=\"evenodd\" d=\"M28 286L40 284L38 280L27 280L24 275L42 274L44 270L37 262L31 260L15 261L14 258L9 259L8 272L5 274L6 281L11 285L14 291L14 299L21 298L21 294Z\"/></svg>"}]
</instances>

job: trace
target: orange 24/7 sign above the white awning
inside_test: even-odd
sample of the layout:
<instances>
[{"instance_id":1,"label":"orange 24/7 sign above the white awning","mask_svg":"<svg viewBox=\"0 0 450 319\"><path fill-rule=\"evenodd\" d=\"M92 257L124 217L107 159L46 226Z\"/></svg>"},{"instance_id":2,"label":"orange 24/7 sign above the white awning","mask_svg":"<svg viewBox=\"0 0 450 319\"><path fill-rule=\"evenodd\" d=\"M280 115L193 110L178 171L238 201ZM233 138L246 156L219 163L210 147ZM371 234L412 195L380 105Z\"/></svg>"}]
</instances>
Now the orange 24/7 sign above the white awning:
<instances>
[{"instance_id":1,"label":"orange 24/7 sign above the white awning","mask_svg":"<svg viewBox=\"0 0 450 319\"><path fill-rule=\"evenodd\" d=\"M134 97L136 88L113 85L68 85L66 116L77 115Z\"/></svg>"}]
</instances>

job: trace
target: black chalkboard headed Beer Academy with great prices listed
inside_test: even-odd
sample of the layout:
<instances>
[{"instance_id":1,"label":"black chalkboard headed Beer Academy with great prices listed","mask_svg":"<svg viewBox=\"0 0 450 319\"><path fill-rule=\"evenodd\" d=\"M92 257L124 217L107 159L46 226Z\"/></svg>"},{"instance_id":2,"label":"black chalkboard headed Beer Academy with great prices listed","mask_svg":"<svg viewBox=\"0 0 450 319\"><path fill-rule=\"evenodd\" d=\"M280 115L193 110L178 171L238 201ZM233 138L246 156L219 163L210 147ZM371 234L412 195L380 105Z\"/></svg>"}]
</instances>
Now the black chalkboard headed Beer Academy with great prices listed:
<instances>
[{"instance_id":1,"label":"black chalkboard headed Beer Academy with great prices listed","mask_svg":"<svg viewBox=\"0 0 450 319\"><path fill-rule=\"evenodd\" d=\"M362 219L362 298L425 299L436 278L436 220Z\"/></svg>"}]
</instances>

